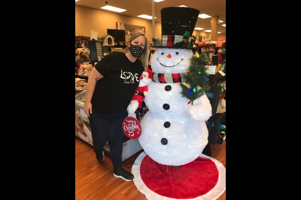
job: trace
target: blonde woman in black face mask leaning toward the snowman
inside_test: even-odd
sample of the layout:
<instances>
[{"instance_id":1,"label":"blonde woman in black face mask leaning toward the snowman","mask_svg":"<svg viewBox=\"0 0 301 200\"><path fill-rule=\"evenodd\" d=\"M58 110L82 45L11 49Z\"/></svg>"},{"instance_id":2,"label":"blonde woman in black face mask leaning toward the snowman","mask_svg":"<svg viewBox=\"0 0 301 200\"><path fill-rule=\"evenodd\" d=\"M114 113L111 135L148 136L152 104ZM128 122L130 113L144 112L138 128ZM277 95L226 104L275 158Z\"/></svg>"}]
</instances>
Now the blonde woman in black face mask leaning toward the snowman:
<instances>
[{"instance_id":1,"label":"blonde woman in black face mask leaning toward the snowman","mask_svg":"<svg viewBox=\"0 0 301 200\"><path fill-rule=\"evenodd\" d=\"M127 106L148 66L149 41L143 32L134 33L125 51L114 51L92 69L87 83L84 111L89 117L94 152L103 161L103 147L109 141L113 175L131 181L134 175L121 167L122 121ZM143 61L143 65L142 62Z\"/></svg>"}]
</instances>

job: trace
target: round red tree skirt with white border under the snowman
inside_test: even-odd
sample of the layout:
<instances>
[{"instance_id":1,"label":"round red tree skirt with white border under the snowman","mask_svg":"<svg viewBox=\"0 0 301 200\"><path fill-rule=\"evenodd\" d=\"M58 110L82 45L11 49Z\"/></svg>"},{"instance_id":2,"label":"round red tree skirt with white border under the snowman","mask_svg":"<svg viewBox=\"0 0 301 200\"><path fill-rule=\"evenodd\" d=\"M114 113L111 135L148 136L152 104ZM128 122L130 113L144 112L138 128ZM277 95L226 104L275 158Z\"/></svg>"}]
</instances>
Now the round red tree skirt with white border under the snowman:
<instances>
[{"instance_id":1,"label":"round red tree skirt with white border under the snowman","mask_svg":"<svg viewBox=\"0 0 301 200\"><path fill-rule=\"evenodd\" d=\"M214 200L226 189L223 164L203 154L175 170L142 152L133 164L132 174L138 190L151 200Z\"/></svg>"}]
</instances>

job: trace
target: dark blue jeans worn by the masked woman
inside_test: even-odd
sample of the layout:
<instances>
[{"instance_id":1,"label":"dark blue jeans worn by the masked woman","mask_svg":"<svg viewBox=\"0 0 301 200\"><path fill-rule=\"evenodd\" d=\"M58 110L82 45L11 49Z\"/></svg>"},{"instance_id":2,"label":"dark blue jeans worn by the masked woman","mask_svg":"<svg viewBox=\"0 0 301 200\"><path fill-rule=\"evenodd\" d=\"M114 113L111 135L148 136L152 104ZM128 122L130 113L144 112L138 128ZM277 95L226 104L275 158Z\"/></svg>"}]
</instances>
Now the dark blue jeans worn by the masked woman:
<instances>
[{"instance_id":1,"label":"dark blue jeans worn by the masked woman","mask_svg":"<svg viewBox=\"0 0 301 200\"><path fill-rule=\"evenodd\" d=\"M110 154L115 171L121 169L122 141L124 137L122 121L127 116L127 111L117 114L101 114L92 110L92 114L89 117L94 152L102 154L104 145L109 141Z\"/></svg>"}]
</instances>

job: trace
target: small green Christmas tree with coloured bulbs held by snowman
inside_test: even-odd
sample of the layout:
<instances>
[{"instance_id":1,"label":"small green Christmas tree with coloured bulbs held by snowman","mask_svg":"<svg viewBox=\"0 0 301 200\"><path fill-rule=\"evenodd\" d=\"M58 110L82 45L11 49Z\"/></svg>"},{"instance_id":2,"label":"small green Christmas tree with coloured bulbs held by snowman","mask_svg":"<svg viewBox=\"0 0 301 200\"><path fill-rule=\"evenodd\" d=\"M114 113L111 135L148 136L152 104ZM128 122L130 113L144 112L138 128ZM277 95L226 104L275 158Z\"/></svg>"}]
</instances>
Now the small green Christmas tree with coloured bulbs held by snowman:
<instances>
[{"instance_id":1,"label":"small green Christmas tree with coloured bulbs held by snowman","mask_svg":"<svg viewBox=\"0 0 301 200\"><path fill-rule=\"evenodd\" d=\"M204 53L192 56L190 59L187 73L182 73L182 78L185 82L181 83L182 97L189 99L188 104L193 105L193 101L200 98L209 89L208 78L205 67L207 57Z\"/></svg>"}]
</instances>

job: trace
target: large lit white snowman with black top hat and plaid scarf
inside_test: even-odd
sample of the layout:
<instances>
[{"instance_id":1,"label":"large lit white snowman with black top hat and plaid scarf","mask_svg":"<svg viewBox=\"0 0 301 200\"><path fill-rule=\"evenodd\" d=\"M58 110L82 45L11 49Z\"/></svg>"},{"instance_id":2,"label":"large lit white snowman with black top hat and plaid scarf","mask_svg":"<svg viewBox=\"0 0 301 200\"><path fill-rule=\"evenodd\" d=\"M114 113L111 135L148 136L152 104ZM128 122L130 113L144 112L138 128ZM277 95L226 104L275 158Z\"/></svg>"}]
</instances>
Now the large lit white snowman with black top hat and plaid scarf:
<instances>
[{"instance_id":1,"label":"large lit white snowman with black top hat and plaid scarf","mask_svg":"<svg viewBox=\"0 0 301 200\"><path fill-rule=\"evenodd\" d=\"M149 111L140 122L143 134L139 142L145 153L174 169L198 158L208 143L205 121L211 116L211 105L207 96L191 105L181 95L180 84L185 81L181 73L187 72L195 47L174 46L182 41L189 44L198 14L198 10L187 7L161 10L162 46L156 46L151 59L153 82L144 100ZM184 41L185 31L190 37Z\"/></svg>"}]
</instances>

